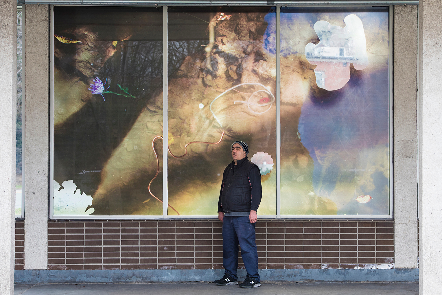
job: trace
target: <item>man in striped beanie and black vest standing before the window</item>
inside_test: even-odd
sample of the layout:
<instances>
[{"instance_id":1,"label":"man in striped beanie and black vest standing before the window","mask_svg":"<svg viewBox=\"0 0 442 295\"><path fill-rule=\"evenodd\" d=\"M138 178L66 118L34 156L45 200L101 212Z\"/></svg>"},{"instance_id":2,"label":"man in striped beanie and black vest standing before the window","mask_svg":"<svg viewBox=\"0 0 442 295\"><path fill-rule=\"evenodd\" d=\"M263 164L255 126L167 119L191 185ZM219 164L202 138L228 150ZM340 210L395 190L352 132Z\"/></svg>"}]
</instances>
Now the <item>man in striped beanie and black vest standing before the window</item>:
<instances>
[{"instance_id":1,"label":"man in striped beanie and black vest standing before the window","mask_svg":"<svg viewBox=\"0 0 442 295\"><path fill-rule=\"evenodd\" d=\"M232 144L233 161L224 170L218 201L218 219L222 224L222 251L225 274L214 283L237 285L238 244L247 270L241 288L259 287L258 252L255 242L256 211L262 197L261 173L248 158L248 145Z\"/></svg>"}]
</instances>

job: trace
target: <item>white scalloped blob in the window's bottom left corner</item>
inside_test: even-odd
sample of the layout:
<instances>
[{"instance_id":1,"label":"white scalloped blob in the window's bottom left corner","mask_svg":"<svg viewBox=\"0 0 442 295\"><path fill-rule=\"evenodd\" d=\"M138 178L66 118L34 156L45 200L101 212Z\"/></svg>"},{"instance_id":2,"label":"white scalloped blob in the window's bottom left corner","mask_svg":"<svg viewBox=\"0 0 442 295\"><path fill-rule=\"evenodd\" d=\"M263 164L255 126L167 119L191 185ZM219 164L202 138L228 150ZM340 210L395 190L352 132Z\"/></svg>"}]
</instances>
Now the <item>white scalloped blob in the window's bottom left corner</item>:
<instances>
[{"instance_id":1,"label":"white scalloped blob in the window's bottom left corner","mask_svg":"<svg viewBox=\"0 0 442 295\"><path fill-rule=\"evenodd\" d=\"M94 208L89 208L92 205L92 197L81 193L80 189L72 180L64 181L61 186L53 181L53 215L90 215L94 213Z\"/></svg>"}]
</instances>

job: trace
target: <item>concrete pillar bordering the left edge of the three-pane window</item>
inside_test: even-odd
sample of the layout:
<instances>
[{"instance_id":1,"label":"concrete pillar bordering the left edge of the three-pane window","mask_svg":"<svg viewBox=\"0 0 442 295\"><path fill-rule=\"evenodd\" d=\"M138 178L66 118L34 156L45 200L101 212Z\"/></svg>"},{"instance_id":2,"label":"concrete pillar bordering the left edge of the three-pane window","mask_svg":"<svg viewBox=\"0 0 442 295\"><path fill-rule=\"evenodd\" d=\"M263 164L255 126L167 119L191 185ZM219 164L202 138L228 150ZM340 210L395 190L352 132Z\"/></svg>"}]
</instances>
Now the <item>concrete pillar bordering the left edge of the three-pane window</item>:
<instances>
[{"instance_id":1,"label":"concrete pillar bordering the left edge of the three-pane window","mask_svg":"<svg viewBox=\"0 0 442 295\"><path fill-rule=\"evenodd\" d=\"M49 201L49 5L25 14L24 269L47 269Z\"/></svg>"}]
</instances>

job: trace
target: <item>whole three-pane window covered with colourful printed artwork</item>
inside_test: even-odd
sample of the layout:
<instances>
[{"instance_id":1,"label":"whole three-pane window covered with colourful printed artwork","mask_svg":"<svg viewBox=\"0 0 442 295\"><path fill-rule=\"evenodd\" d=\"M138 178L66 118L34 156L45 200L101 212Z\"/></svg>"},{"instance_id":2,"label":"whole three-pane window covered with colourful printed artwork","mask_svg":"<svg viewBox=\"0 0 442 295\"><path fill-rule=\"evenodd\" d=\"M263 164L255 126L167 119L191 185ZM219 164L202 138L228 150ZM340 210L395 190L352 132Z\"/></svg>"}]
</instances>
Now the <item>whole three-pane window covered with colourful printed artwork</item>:
<instances>
[{"instance_id":1,"label":"whole three-pane window covered with colourful printed artwork","mask_svg":"<svg viewBox=\"0 0 442 295\"><path fill-rule=\"evenodd\" d=\"M235 140L261 170L261 218L391 216L388 7L53 20L54 218L213 218Z\"/></svg>"}]
</instances>

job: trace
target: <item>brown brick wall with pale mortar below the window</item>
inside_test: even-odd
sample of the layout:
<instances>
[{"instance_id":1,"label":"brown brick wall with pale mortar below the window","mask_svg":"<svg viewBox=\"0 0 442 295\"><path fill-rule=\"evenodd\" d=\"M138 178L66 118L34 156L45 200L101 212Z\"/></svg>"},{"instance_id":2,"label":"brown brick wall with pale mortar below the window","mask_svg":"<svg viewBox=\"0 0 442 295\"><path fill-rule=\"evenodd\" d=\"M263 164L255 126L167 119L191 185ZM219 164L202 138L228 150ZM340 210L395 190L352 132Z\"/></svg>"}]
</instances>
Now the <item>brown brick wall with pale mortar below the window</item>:
<instances>
[{"instance_id":1,"label":"brown brick wall with pale mortar below the window","mask_svg":"<svg viewBox=\"0 0 442 295\"><path fill-rule=\"evenodd\" d=\"M23 269L23 222L16 224ZM48 269L222 269L217 220L48 224ZM256 243L260 269L393 267L391 220L259 220Z\"/></svg>"}]
</instances>

